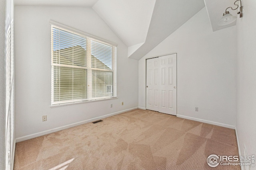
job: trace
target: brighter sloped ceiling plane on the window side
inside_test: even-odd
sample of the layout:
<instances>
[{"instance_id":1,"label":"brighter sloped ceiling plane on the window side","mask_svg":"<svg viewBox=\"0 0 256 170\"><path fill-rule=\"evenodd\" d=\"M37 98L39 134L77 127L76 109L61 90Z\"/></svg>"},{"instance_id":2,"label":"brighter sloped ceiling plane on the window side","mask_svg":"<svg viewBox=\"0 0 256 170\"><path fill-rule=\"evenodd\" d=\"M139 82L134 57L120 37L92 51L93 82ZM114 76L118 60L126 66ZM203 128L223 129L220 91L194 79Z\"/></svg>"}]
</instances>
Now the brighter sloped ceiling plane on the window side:
<instances>
[{"instance_id":1,"label":"brighter sloped ceiling plane on the window side","mask_svg":"<svg viewBox=\"0 0 256 170\"><path fill-rule=\"evenodd\" d=\"M156 0L98 0L92 7L128 46L144 43Z\"/></svg>"}]
</instances>

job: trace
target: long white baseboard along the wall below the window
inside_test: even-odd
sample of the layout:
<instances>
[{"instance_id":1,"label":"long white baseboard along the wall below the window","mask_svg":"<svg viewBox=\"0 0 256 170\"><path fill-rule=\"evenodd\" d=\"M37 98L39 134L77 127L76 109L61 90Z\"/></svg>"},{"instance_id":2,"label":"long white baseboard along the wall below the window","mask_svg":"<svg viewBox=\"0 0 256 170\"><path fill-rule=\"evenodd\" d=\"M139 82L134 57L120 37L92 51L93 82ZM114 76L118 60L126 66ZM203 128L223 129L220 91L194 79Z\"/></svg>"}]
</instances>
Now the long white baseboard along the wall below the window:
<instances>
[{"instance_id":1,"label":"long white baseboard along the wall below the window","mask_svg":"<svg viewBox=\"0 0 256 170\"><path fill-rule=\"evenodd\" d=\"M34 134L31 134L31 135L26 135L26 136L23 136L23 137L19 137L19 138L16 138L16 143L17 142L21 142L21 141L26 141L28 139L32 139L32 138L35 138L35 137L40 137L42 135L47 135L47 134L50 134L50 133L61 131L63 129L68 129L70 127L82 125L84 123L89 123L89 122L96 121L96 120L99 120L99 119L103 119L103 118L106 118L106 117L118 115L120 113L124 113L126 111L130 111L130 110L134 110L134 109L138 109L138 107L134 107L134 108L131 108L131 109L126 109L126 110L118 111L118 112L115 112L115 113L110 113L108 115L103 115L103 116L100 116L100 117L95 117L93 119L88 119L88 120L80 121L80 122L77 122L77 123L72 123L72 124L69 124L69 125L62 126L62 127L57 127L57 128L54 128L54 129L50 129L50 130L47 130L47 131L42 131L42 132L34 133Z\"/></svg>"}]
</instances>

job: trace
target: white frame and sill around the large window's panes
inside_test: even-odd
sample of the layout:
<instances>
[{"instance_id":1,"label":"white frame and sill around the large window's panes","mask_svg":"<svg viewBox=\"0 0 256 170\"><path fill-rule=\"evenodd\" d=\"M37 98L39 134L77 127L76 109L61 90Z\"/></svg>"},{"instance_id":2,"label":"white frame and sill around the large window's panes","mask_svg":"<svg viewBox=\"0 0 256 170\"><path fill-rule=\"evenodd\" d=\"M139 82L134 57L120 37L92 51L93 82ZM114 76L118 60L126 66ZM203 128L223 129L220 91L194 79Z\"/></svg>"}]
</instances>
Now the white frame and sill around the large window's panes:
<instances>
[{"instance_id":1,"label":"white frame and sill around the large window's panes","mask_svg":"<svg viewBox=\"0 0 256 170\"><path fill-rule=\"evenodd\" d=\"M116 99L117 97L117 44L116 43L112 43L110 41L107 41L105 39L96 37L94 35L90 35L88 33L85 33L83 31L80 31L78 29L74 29L72 27L68 27L66 25L63 25L61 23L55 22L50 20L50 25L51 25L51 107L56 107L56 106L66 106L66 105L72 105L72 104L80 104L80 103L84 103L84 102L96 102L96 101L102 101L102 100L111 100L111 99ZM101 68L93 68L91 65L92 61L91 59L91 52L90 50L88 51L88 53L86 53L86 69L87 69L87 75L86 75L86 79L87 79L87 98L86 99L82 99L82 100L64 100L64 101L58 101L58 102L54 102L54 65L56 66L56 64L54 64L53 62L53 46L52 46L52 27L55 27L56 29L61 29L63 31L67 31L69 33L74 33L76 35L80 35L82 37L86 37L86 51L88 51L88 40L89 41L97 41L99 43L104 43L106 45L110 45L112 46L112 50L114 50L114 53L112 54L112 70L104 70ZM103 72L112 72L112 96L102 96L102 97L94 97L92 98L92 87L90 87L89 85L91 85L90 83L92 82L92 75L88 76L88 70L90 70L90 72L92 71L103 71ZM90 77L90 80L89 80ZM89 85L88 85L89 84ZM107 86L109 86L109 84L106 84L106 90L107 90ZM109 94L109 93L108 93Z\"/></svg>"}]
</instances>

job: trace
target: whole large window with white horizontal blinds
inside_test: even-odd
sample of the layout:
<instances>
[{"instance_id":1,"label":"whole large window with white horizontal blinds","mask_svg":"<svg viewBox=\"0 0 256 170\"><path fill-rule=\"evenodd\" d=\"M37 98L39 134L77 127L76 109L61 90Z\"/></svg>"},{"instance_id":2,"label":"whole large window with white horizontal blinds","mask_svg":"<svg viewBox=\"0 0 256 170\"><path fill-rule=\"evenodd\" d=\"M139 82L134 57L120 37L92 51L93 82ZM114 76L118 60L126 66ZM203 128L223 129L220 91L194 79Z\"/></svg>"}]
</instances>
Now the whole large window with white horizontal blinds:
<instances>
[{"instance_id":1,"label":"whole large window with white horizontal blinds","mask_svg":"<svg viewBox=\"0 0 256 170\"><path fill-rule=\"evenodd\" d=\"M52 25L52 105L116 96L116 45Z\"/></svg>"}]
</instances>

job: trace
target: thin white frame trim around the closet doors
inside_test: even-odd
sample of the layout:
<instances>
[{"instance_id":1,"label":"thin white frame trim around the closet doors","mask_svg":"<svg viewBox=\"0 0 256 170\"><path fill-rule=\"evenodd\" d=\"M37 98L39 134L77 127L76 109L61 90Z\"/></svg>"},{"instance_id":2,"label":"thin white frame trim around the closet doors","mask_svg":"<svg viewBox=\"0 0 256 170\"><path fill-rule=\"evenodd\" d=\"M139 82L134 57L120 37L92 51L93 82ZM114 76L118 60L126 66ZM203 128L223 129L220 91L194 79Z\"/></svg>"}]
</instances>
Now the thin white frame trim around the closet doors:
<instances>
[{"instance_id":1,"label":"thin white frame trim around the closet doors","mask_svg":"<svg viewBox=\"0 0 256 170\"><path fill-rule=\"evenodd\" d=\"M147 109L147 59L154 59L154 58L158 58L158 57L162 57L162 56L166 56L166 55L172 55L172 54L176 54L176 86L178 87L178 67L177 67L177 63L178 63L178 53L177 52L174 52L174 53L167 53L167 54L163 54L163 55L157 55L157 56L154 56L154 57L146 57L145 58L145 110ZM178 115L178 88L176 89L176 116Z\"/></svg>"}]
</instances>

